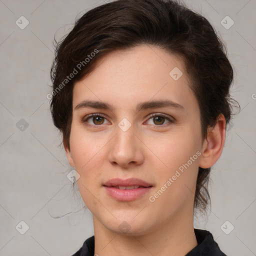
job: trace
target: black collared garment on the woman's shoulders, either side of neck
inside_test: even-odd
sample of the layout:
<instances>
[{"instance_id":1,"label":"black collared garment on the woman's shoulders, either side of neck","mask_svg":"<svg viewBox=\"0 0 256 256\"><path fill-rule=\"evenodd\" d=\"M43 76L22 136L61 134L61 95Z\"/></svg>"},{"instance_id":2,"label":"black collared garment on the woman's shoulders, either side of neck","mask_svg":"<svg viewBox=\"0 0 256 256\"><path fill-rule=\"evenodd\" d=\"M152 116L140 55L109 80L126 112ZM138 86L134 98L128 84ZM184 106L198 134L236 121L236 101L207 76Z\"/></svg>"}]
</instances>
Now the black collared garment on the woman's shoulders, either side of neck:
<instances>
[{"instance_id":1,"label":"black collared garment on the woman's shoulders, either side of neck","mask_svg":"<svg viewBox=\"0 0 256 256\"><path fill-rule=\"evenodd\" d=\"M185 256L226 256L214 241L212 234L207 230L194 228L197 245ZM82 247L72 256L93 256L94 235L86 239Z\"/></svg>"}]
</instances>

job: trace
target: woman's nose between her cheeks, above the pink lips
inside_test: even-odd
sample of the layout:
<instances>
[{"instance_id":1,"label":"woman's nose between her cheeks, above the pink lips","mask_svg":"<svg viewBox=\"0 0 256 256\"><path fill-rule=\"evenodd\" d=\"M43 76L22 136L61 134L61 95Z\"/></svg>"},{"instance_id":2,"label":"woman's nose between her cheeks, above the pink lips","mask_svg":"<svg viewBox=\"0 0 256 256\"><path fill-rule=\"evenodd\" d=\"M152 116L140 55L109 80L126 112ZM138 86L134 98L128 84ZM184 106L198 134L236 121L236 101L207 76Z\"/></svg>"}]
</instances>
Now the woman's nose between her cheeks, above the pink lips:
<instances>
[{"instance_id":1,"label":"woman's nose between her cheeks, above the pink lips","mask_svg":"<svg viewBox=\"0 0 256 256\"><path fill-rule=\"evenodd\" d=\"M116 134L110 144L109 162L123 168L141 164L144 160L144 148L141 140L133 125L126 131L117 126Z\"/></svg>"}]
</instances>

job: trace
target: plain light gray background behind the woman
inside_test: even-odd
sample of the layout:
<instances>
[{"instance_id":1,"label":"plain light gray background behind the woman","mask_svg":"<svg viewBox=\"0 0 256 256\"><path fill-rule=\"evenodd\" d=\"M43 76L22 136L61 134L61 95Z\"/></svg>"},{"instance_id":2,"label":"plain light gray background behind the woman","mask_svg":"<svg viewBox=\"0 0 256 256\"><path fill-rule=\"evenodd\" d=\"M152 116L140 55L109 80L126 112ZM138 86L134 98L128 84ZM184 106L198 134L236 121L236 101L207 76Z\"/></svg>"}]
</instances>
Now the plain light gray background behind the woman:
<instances>
[{"instance_id":1,"label":"plain light gray background behind the woman","mask_svg":"<svg viewBox=\"0 0 256 256\"><path fill-rule=\"evenodd\" d=\"M256 0L185 2L209 19L225 41L235 71L231 95L241 106L212 168L208 219L198 217L194 225L210 230L227 255L256 255ZM66 177L71 167L58 147L60 137L46 95L55 32L59 39L70 31L77 15L101 3L0 0L1 256L68 256L93 234L88 209L65 214L82 208L83 202ZM24 29L15 23L21 15L29 21ZM227 15L234 21L229 29L221 24ZM17 231L24 228L21 220L29 226L24 234ZM229 234L221 229L226 220L234 226ZM230 230L231 225L224 227Z\"/></svg>"}]
</instances>

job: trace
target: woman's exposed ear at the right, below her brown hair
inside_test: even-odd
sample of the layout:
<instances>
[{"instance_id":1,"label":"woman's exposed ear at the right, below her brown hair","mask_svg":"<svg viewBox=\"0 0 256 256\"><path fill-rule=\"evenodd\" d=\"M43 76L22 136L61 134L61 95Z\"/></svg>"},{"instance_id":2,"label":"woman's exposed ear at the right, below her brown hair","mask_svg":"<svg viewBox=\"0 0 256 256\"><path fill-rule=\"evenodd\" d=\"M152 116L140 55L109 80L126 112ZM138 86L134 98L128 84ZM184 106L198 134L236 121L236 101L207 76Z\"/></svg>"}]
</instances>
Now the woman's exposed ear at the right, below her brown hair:
<instances>
[{"instance_id":1,"label":"woman's exposed ear at the right, below her brown hair","mask_svg":"<svg viewBox=\"0 0 256 256\"><path fill-rule=\"evenodd\" d=\"M199 167L209 168L220 157L225 142L225 127L225 117L220 114L215 126L208 128L207 137L202 145Z\"/></svg>"}]
</instances>

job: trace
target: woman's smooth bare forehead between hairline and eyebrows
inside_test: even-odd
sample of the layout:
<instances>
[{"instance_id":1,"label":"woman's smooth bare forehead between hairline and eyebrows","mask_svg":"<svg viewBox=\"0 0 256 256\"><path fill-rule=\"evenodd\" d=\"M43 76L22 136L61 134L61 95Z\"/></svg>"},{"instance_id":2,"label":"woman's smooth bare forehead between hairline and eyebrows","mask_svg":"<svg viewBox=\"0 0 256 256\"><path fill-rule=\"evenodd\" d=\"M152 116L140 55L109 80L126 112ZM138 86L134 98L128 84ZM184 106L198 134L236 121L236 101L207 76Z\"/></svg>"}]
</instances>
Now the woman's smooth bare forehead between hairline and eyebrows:
<instances>
[{"instance_id":1,"label":"woman's smooth bare forehead between hairline and eyebrows","mask_svg":"<svg viewBox=\"0 0 256 256\"><path fill-rule=\"evenodd\" d=\"M116 50L100 58L94 70L74 84L73 107L87 99L119 109L135 108L150 99L184 106L196 101L182 58L152 45Z\"/></svg>"}]
</instances>

